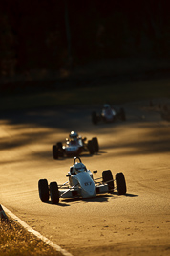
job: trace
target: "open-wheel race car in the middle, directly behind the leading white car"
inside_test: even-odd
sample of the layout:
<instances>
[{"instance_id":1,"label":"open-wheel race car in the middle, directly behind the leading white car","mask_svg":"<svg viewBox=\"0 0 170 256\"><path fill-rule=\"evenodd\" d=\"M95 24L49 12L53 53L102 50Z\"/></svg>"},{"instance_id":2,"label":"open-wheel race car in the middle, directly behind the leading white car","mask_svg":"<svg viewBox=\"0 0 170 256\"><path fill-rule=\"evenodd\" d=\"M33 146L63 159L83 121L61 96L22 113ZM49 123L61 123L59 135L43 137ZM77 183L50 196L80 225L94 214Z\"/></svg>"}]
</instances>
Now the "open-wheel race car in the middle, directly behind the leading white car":
<instances>
[{"instance_id":1,"label":"open-wheel race car in the middle, directly behind the leading white car","mask_svg":"<svg viewBox=\"0 0 170 256\"><path fill-rule=\"evenodd\" d=\"M69 138L66 138L66 143L57 142L53 145L53 159L58 159L64 156L78 156L83 151L89 151L94 154L99 151L98 140L96 137L86 142L86 138L78 136L75 131L71 131Z\"/></svg>"}]
</instances>

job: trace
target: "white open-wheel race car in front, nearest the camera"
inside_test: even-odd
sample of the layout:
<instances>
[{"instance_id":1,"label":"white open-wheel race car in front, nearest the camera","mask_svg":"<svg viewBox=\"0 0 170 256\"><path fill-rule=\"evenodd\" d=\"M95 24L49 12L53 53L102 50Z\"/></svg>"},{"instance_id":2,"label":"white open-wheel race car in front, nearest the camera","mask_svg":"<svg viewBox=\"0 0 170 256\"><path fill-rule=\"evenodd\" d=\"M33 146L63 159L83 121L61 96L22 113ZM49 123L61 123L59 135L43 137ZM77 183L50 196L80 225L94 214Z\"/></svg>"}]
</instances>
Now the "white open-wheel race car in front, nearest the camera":
<instances>
[{"instance_id":1,"label":"white open-wheel race car in front, nearest the camera","mask_svg":"<svg viewBox=\"0 0 170 256\"><path fill-rule=\"evenodd\" d=\"M97 171L91 173L87 170L79 157L74 157L74 164L66 175L69 180L64 184L58 185L55 181L48 184L47 179L38 181L39 198L42 202L47 202L51 198L51 202L55 204L59 203L59 198L94 198L98 194L113 193L114 181L117 184L118 194L126 194L126 181L123 173L117 173L115 180L110 170L103 171L102 177L96 179L94 179L95 173Z\"/></svg>"}]
</instances>

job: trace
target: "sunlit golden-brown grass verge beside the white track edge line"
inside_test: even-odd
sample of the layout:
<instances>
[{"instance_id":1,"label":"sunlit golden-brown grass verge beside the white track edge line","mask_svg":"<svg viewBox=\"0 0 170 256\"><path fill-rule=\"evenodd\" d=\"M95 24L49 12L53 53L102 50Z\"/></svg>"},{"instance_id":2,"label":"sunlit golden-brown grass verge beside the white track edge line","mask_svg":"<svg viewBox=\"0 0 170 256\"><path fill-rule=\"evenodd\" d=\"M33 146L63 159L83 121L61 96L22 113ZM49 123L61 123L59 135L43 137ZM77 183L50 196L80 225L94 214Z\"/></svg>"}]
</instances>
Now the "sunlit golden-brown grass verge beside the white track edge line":
<instances>
[{"instance_id":1,"label":"sunlit golden-brown grass verge beside the white track edge line","mask_svg":"<svg viewBox=\"0 0 170 256\"><path fill-rule=\"evenodd\" d=\"M1 256L61 256L51 246L37 239L19 223L12 221L0 223Z\"/></svg>"}]
</instances>

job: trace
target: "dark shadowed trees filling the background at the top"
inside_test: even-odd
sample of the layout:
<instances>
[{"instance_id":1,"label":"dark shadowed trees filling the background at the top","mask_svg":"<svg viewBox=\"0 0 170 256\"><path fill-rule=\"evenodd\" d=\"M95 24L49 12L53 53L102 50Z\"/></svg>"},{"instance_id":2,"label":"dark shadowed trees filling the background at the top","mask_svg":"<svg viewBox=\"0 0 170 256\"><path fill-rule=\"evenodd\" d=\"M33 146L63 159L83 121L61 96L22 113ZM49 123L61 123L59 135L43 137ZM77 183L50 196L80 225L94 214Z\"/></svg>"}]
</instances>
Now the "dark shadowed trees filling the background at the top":
<instances>
[{"instance_id":1,"label":"dark shadowed trees filling the background at the top","mask_svg":"<svg viewBox=\"0 0 170 256\"><path fill-rule=\"evenodd\" d=\"M169 3L1 1L1 76L108 58L170 58Z\"/></svg>"}]
</instances>

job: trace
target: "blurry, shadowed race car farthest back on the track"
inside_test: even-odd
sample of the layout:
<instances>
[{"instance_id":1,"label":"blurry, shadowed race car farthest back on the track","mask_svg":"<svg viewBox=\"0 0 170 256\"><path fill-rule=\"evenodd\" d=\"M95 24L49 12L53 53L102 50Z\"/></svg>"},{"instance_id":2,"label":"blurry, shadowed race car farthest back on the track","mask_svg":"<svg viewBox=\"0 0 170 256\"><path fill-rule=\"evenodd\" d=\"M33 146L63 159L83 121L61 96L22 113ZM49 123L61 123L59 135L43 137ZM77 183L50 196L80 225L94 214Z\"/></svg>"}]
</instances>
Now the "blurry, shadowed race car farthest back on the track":
<instances>
[{"instance_id":1,"label":"blurry, shadowed race car farthest back on the track","mask_svg":"<svg viewBox=\"0 0 170 256\"><path fill-rule=\"evenodd\" d=\"M122 121L126 120L126 114L123 107L121 107L119 110L116 110L116 108L105 104L103 105L100 114L97 114L95 111L92 112L92 122L94 125L97 125L97 123L101 121L105 123L111 123L115 122L118 119Z\"/></svg>"}]
</instances>

